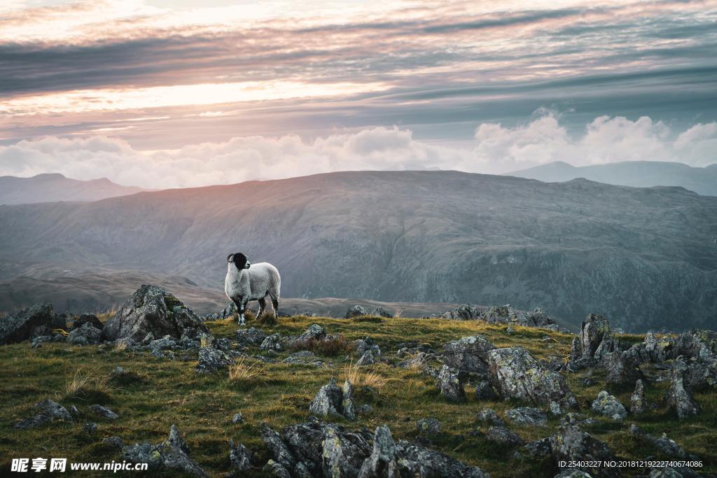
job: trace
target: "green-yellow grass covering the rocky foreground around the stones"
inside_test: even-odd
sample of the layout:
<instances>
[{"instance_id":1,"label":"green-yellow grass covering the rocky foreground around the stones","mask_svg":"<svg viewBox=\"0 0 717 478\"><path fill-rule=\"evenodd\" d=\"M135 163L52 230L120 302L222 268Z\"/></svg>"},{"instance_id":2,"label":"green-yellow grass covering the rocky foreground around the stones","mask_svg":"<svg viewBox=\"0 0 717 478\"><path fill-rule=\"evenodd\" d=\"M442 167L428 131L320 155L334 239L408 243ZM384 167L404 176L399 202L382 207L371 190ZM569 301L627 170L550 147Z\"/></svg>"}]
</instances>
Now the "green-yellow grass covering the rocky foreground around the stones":
<instances>
[{"instance_id":1,"label":"green-yellow grass covering the rocky foreground around the stones","mask_svg":"<svg viewBox=\"0 0 717 478\"><path fill-rule=\"evenodd\" d=\"M379 343L384 356L392 359L397 359L397 345L402 342L413 340L440 349L449 340L475 334L485 335L497 347L525 347L536 358L564 358L569 355L572 340L571 335L546 330L514 326L512 333L506 333L501 325L440 319L384 318L376 321L286 317L272 326L257 325L255 321L248 325L255 325L267 333L298 335L312 323L319 323L328 333L341 334L348 342L369 335ZM207 322L207 325L217 337L233 339L237 330L232 320ZM551 340L541 340L545 335ZM288 353L281 353L280 358ZM322 350L315 348L315 353L320 355ZM181 360L183 355L189 360ZM171 424L176 424L191 448L191 457L212 477L222 477L229 468L227 444L230 438L256 451L257 462L264 464L269 456L258 425L266 421L275 429L281 429L305 421L309 403L318 388L332 376L343 382L351 373L359 373L359 377L355 377L359 381L356 403L370 403L373 411L355 423L343 423L349 428L367 426L373 430L379 424L388 424L394 438L412 439L418 434L416 421L432 417L442 423L443 434L432 439L436 449L475 464L493 477L543 476L549 472L549 464L513 459L513 450L468 436L473 429L486 429L476 419L480 408L495 408L498 414L503 414L518 403L478 403L470 388L466 388L466 403L447 403L435 390L432 379L420 371L377 364L356 372L351 363L357 359L351 350L345 353L341 350L338 354L336 350L327 350L321 357L326 368L270 363L261 365L260 373L255 377L250 371L248 377L239 373L239 378L230 379L229 371L209 376L194 373L196 353L179 352L172 361L160 360L148 353L65 343L45 343L37 349L30 348L27 342L2 346L0 474L9 469L13 457L67 457L77 462L111 462L118 459L118 451L102 444L104 437L120 436L125 444L156 443L166 438ZM108 379L117 365L133 376ZM595 416L589 409L592 399L606 388L602 375L594 373L592 378L596 384L589 387L582 386L582 376L583 372L567 374L569 384L579 398L581 412L597 420L597 424L587 431L606 441L620 457L659 457L650 446L627 434L630 424L637 423L650 434L666 432L688 452L704 460L702 471L717 472L717 454L713 448L717 439L717 396L714 391L697 394L703 408L700 416L678 421L660 406L638 419L630 416L625 423L614 424ZM376 393L364 391L361 382L372 385ZM661 403L665 386L665 383L647 385L648 401ZM625 405L630 402L631 389L607 387L607 390L617 394ZM38 429L12 429L16 421L34 414L32 405L44 398L52 398L67 407L75 405L82 416L74 424L54 422ZM87 406L92 403L109 406L120 414L120 419L108 421L88 415ZM237 411L244 416L243 424L231 422ZM99 424L98 434L93 437L81 431L82 424L87 421ZM511 428L524 439L533 440L553 434L558 426L559 419L551 418L546 428ZM261 476L258 470L260 467L254 475L247 476ZM629 476L630 472L626 474Z\"/></svg>"}]
</instances>

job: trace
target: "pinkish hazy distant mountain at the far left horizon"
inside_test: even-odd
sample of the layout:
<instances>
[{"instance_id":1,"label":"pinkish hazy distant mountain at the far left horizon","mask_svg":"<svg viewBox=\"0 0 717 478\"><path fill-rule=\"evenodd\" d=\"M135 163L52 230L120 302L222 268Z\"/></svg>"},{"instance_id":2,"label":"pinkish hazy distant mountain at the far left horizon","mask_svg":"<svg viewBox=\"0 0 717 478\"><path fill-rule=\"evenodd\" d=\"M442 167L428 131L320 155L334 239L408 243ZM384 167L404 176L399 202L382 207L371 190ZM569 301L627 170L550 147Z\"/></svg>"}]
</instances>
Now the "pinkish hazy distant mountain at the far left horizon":
<instances>
[{"instance_id":1,"label":"pinkish hazy distant mountain at the far left horizon","mask_svg":"<svg viewBox=\"0 0 717 478\"><path fill-rule=\"evenodd\" d=\"M33 204L54 201L99 201L145 191L120 186L107 178L79 181L62 174L38 174L32 178L0 176L0 204Z\"/></svg>"}]
</instances>

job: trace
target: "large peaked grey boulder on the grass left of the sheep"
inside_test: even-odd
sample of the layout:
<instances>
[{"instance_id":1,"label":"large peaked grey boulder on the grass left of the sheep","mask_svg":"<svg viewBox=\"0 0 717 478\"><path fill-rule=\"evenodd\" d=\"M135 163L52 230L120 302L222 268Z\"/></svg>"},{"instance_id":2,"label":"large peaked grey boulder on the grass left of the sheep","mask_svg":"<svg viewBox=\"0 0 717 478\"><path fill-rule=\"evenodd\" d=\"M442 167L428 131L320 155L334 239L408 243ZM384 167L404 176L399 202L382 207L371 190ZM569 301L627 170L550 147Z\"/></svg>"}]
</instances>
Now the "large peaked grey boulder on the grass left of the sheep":
<instances>
[{"instance_id":1,"label":"large peaked grey boulder on the grass left of the sheep","mask_svg":"<svg viewBox=\"0 0 717 478\"><path fill-rule=\"evenodd\" d=\"M199 317L174 295L161 287L143 285L105 323L103 337L139 342L152 333L154 337L170 335L179 339L186 328L207 332Z\"/></svg>"}]
</instances>

